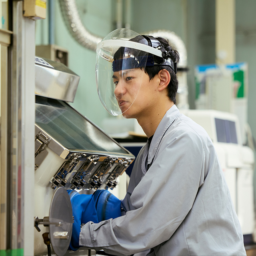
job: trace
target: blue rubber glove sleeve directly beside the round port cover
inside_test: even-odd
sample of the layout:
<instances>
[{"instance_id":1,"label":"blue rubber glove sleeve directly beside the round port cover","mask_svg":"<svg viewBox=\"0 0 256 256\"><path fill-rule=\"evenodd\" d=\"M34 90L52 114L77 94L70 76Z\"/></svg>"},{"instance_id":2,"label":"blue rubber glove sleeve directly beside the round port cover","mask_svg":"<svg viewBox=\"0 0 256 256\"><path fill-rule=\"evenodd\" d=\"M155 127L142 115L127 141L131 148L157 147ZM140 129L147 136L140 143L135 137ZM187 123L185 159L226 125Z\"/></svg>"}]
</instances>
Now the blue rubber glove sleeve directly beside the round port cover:
<instances>
[{"instance_id":1,"label":"blue rubber glove sleeve directly beside the round port cover","mask_svg":"<svg viewBox=\"0 0 256 256\"><path fill-rule=\"evenodd\" d=\"M69 250L76 251L79 246L81 224L92 221L98 223L98 216L93 195L79 194L75 190L67 190L72 204L74 223Z\"/></svg>"}]
</instances>

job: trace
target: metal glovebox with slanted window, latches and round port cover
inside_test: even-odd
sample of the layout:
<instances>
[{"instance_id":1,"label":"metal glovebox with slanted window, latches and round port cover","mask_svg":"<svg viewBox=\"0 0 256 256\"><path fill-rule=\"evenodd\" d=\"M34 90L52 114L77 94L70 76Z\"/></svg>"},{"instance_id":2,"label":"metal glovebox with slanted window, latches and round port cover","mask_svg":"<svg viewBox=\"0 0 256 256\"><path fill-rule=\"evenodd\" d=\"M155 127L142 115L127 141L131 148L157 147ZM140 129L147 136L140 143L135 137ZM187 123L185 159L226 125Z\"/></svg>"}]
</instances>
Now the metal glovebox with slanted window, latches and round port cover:
<instances>
[{"instance_id":1,"label":"metal glovebox with slanted window, latches and round port cover","mask_svg":"<svg viewBox=\"0 0 256 256\"><path fill-rule=\"evenodd\" d=\"M35 66L34 254L46 254L41 234L49 232L54 252L64 255L72 233L66 190L113 189L134 156L67 103L74 100L79 82L74 72L38 57Z\"/></svg>"}]
</instances>

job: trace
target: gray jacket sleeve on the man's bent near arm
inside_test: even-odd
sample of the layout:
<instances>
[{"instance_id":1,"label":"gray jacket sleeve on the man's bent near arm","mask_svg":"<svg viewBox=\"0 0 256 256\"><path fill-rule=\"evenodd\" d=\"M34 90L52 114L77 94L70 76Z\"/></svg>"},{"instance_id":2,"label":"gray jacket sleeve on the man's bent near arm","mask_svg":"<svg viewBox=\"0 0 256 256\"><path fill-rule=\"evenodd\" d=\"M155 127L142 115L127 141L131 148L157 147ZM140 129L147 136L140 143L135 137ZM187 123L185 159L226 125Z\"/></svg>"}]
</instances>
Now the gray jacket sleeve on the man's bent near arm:
<instances>
[{"instance_id":1,"label":"gray jacket sleeve on the man's bent near arm","mask_svg":"<svg viewBox=\"0 0 256 256\"><path fill-rule=\"evenodd\" d=\"M88 222L80 245L130 255L169 240L191 210L204 176L204 148L196 133L162 138L146 175L134 188L126 215Z\"/></svg>"}]
</instances>

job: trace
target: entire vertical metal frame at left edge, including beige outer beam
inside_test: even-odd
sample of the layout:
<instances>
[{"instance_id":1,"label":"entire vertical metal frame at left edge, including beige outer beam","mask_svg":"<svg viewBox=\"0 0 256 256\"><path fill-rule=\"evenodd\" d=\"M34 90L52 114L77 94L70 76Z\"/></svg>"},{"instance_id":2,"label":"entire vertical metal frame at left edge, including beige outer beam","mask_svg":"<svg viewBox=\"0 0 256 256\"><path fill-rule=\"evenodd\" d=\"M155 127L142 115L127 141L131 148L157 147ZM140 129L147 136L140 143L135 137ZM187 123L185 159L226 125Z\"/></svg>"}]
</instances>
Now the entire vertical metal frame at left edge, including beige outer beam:
<instances>
[{"instance_id":1,"label":"entire vertical metal frame at left edge, including beige outer beam","mask_svg":"<svg viewBox=\"0 0 256 256\"><path fill-rule=\"evenodd\" d=\"M23 1L10 3L13 36L0 30L0 250L33 255L35 22L22 16Z\"/></svg>"}]
</instances>

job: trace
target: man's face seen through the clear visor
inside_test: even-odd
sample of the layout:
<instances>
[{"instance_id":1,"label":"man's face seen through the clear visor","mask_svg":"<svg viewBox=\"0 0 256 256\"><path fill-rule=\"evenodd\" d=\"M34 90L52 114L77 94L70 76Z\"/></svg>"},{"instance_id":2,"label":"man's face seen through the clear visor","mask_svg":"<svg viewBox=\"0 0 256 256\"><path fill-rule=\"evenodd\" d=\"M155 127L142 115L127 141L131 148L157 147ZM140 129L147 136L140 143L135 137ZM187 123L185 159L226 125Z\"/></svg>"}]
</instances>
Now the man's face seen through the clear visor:
<instances>
[{"instance_id":1,"label":"man's face seen through the clear visor","mask_svg":"<svg viewBox=\"0 0 256 256\"><path fill-rule=\"evenodd\" d=\"M154 80L154 79L153 79ZM151 85L144 69L135 68L114 72L114 94L125 118L138 118L145 114L154 99L154 86Z\"/></svg>"}]
</instances>

